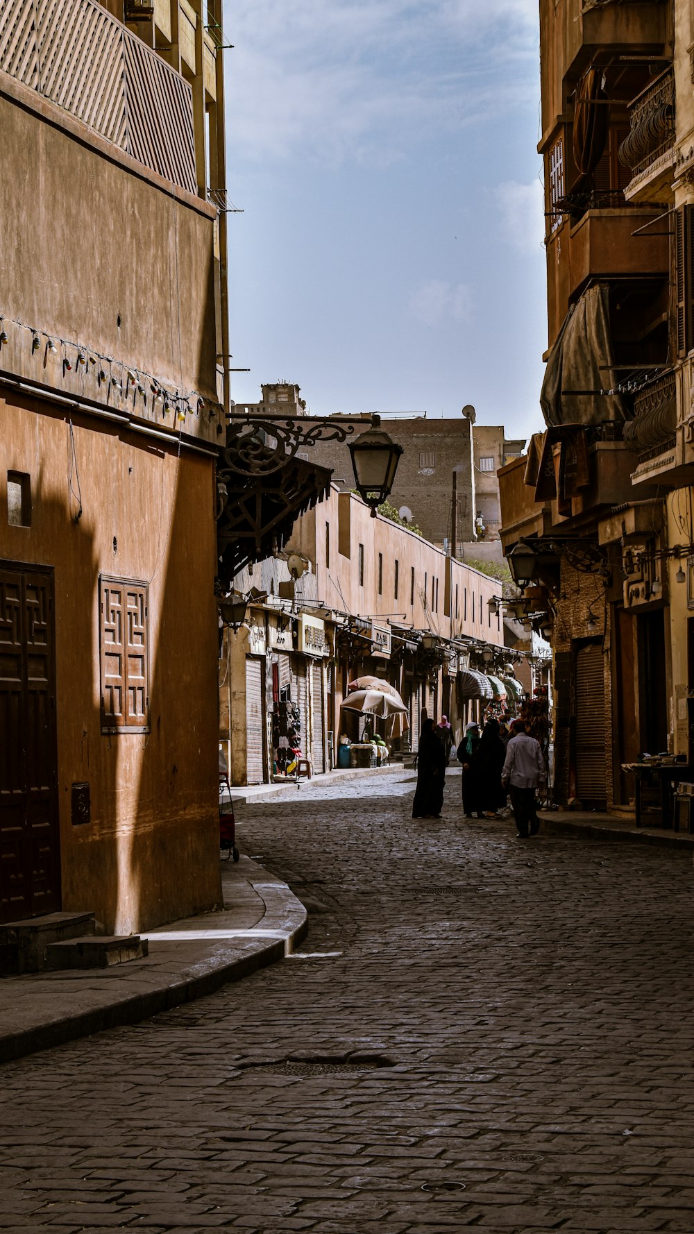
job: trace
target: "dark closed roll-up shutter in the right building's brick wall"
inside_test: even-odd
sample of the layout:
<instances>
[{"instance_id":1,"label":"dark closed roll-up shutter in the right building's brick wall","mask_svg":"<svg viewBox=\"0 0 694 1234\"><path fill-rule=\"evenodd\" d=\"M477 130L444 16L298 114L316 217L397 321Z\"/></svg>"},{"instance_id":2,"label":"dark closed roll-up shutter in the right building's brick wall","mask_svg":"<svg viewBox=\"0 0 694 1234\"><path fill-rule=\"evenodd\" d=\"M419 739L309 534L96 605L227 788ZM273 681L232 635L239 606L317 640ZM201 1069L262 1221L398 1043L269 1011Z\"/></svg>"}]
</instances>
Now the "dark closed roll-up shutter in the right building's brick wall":
<instances>
[{"instance_id":1,"label":"dark closed roll-up shutter in the right building's brick wall","mask_svg":"<svg viewBox=\"0 0 694 1234\"><path fill-rule=\"evenodd\" d=\"M582 802L604 806L605 677L603 648L590 643L575 654L575 791Z\"/></svg>"}]
</instances>

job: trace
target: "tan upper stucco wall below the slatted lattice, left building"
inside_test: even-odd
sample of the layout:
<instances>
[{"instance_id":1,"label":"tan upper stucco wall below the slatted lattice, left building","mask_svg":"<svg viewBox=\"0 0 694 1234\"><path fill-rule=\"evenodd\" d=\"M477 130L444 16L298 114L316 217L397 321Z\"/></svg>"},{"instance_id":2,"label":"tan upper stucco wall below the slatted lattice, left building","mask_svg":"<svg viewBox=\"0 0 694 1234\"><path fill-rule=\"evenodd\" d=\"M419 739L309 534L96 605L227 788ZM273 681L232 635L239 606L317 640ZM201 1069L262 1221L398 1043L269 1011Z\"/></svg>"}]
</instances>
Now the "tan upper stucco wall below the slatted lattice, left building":
<instances>
[{"instance_id":1,"label":"tan upper stucco wall below the slatted lattice, left building","mask_svg":"<svg viewBox=\"0 0 694 1234\"><path fill-rule=\"evenodd\" d=\"M11 236L0 316L109 358L121 380L131 366L172 391L216 400L212 207L9 78L0 131L0 217ZM2 369L172 427L173 415L164 421L152 407L148 383L146 404L132 390L120 396L110 381L98 385L94 366L85 376L73 346L61 348L61 362L73 362L63 371L46 363L44 337L32 353L28 329L6 328ZM196 400L184 431L216 442L209 410L195 412Z\"/></svg>"}]
</instances>

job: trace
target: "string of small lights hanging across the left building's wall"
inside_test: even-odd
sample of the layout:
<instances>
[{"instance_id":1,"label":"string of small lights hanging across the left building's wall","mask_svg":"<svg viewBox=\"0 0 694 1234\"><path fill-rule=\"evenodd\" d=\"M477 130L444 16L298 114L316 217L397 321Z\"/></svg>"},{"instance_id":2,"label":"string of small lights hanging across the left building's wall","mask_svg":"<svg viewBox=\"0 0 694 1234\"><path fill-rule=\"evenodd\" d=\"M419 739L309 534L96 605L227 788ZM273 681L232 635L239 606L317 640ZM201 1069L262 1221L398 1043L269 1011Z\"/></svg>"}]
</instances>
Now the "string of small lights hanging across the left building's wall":
<instances>
[{"instance_id":1,"label":"string of small lights hanging across the left building's wall","mask_svg":"<svg viewBox=\"0 0 694 1234\"><path fill-rule=\"evenodd\" d=\"M38 363L43 363L43 366L52 364L59 368L63 378L74 371L84 380L94 380L101 396L105 392L106 404L122 404L132 399L133 407L137 407L137 401L142 400L146 408L148 405L154 411L161 408L162 417L170 415L180 423L185 422L186 416L200 416L205 408L209 410L210 420L222 412L220 404L204 399L198 390L188 392L172 390L156 374L146 373L111 355L102 355L94 348L61 338L37 326L27 326L2 312L0 312L0 355L4 348L12 347L12 327L31 336L31 355Z\"/></svg>"}]
</instances>

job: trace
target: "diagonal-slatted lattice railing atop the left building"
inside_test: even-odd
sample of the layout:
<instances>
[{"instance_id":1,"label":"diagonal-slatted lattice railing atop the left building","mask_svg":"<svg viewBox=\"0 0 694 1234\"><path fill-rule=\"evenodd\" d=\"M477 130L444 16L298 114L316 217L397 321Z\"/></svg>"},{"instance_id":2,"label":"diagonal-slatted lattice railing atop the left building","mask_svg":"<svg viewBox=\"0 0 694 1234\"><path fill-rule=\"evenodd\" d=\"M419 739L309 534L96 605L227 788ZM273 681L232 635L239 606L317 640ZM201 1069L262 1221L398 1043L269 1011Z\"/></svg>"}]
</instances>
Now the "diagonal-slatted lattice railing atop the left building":
<instances>
[{"instance_id":1,"label":"diagonal-slatted lattice railing atop the left building","mask_svg":"<svg viewBox=\"0 0 694 1234\"><path fill-rule=\"evenodd\" d=\"M190 86L95 0L1 0L0 69L198 191Z\"/></svg>"}]
</instances>

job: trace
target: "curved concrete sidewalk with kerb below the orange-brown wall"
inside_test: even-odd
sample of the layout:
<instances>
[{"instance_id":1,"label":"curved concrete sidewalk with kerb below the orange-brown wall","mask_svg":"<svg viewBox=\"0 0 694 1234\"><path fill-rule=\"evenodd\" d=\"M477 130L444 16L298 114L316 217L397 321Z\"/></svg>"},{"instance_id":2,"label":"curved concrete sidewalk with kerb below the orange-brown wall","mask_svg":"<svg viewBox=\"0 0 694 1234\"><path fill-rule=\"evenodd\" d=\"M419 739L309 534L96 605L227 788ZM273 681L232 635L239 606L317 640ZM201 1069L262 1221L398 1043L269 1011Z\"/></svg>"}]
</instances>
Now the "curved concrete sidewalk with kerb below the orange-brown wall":
<instances>
[{"instance_id":1,"label":"curved concrete sidewalk with kerb below the orange-brown wall","mask_svg":"<svg viewBox=\"0 0 694 1234\"><path fill-rule=\"evenodd\" d=\"M148 956L110 969L0 977L0 1062L167 1011L289 955L306 909L242 856L222 863L224 908L148 934Z\"/></svg>"}]
</instances>

